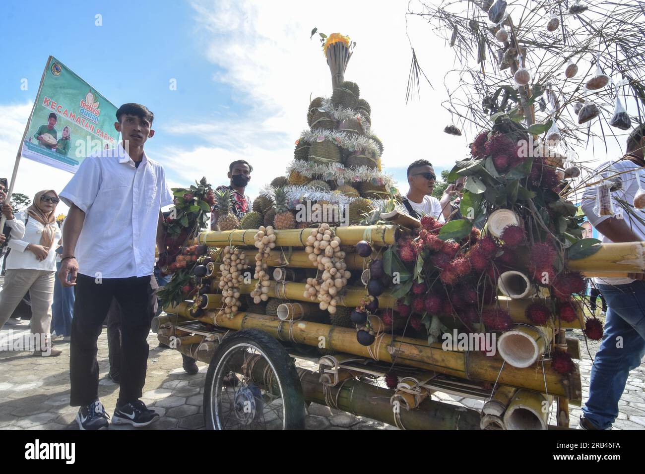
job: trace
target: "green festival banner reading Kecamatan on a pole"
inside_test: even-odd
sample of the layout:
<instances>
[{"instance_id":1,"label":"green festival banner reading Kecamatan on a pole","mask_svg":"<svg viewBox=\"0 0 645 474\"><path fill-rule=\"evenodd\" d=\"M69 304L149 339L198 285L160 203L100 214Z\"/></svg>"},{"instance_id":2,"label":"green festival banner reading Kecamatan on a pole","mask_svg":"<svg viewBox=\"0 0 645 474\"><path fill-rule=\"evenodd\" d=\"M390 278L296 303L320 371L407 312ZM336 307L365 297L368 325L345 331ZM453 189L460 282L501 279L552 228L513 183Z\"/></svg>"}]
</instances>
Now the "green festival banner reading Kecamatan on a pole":
<instances>
[{"instance_id":1,"label":"green festival banner reading Kecamatan on a pole","mask_svg":"<svg viewBox=\"0 0 645 474\"><path fill-rule=\"evenodd\" d=\"M75 173L85 157L117 146L116 111L114 104L50 56L21 153Z\"/></svg>"}]
</instances>

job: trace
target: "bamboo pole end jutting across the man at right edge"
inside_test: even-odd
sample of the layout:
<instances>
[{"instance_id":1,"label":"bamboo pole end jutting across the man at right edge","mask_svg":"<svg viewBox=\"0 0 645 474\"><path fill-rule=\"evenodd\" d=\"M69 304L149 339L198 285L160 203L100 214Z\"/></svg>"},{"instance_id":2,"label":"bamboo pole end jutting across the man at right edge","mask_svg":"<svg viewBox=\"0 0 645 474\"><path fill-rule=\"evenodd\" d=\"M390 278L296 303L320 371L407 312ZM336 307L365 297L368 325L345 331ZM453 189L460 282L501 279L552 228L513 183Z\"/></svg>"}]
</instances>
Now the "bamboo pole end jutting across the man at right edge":
<instances>
[{"instance_id":1,"label":"bamboo pole end jutting across the man at right edge","mask_svg":"<svg viewBox=\"0 0 645 474\"><path fill-rule=\"evenodd\" d=\"M645 242L601 244L584 259L568 260L569 270L581 272L642 273L645 271Z\"/></svg>"}]
</instances>

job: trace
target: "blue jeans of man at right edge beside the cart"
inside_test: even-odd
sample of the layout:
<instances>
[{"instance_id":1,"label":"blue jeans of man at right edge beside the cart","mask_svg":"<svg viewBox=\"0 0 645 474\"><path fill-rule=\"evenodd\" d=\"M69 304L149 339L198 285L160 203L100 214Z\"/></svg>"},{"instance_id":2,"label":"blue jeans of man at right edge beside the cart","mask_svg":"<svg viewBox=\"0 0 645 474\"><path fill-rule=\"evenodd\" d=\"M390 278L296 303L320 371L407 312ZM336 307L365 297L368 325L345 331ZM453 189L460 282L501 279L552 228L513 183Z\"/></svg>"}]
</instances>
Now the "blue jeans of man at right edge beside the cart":
<instances>
[{"instance_id":1,"label":"blue jeans of man at right edge beside the cart","mask_svg":"<svg viewBox=\"0 0 645 474\"><path fill-rule=\"evenodd\" d=\"M589 400L582 411L600 430L618 417L618 402L630 370L645 355L645 281L599 284L607 301L604 335L591 368Z\"/></svg>"}]
</instances>

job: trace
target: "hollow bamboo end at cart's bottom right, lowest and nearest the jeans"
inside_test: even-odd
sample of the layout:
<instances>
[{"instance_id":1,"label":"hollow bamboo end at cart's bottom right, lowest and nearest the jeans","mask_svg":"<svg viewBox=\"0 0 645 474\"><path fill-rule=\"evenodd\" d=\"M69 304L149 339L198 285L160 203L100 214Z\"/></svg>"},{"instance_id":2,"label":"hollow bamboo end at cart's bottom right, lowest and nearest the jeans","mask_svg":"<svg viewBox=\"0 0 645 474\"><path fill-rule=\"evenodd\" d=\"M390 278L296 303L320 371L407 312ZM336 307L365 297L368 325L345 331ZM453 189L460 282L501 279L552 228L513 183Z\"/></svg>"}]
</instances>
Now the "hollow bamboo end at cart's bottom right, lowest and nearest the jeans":
<instances>
[{"instance_id":1,"label":"hollow bamboo end at cart's bottom right, lowest and nearest the jeans","mask_svg":"<svg viewBox=\"0 0 645 474\"><path fill-rule=\"evenodd\" d=\"M546 430L553 397L518 390L504 413L506 430Z\"/></svg>"}]
</instances>

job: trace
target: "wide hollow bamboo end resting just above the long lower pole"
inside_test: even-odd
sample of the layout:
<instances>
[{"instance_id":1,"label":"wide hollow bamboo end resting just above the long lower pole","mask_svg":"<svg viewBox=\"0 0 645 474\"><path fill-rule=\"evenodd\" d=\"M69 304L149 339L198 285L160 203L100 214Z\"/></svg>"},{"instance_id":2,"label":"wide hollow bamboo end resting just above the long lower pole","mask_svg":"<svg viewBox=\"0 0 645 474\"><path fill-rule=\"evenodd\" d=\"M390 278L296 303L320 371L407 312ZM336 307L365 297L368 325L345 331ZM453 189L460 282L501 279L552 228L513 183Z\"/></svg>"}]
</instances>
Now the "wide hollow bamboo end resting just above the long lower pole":
<instances>
[{"instance_id":1,"label":"wide hollow bamboo end resting just above the long lower pole","mask_svg":"<svg viewBox=\"0 0 645 474\"><path fill-rule=\"evenodd\" d=\"M535 364L553 341L553 329L542 326L515 326L502 333L497 351L513 367L525 368Z\"/></svg>"}]
</instances>

